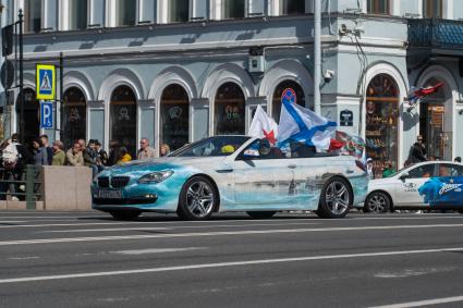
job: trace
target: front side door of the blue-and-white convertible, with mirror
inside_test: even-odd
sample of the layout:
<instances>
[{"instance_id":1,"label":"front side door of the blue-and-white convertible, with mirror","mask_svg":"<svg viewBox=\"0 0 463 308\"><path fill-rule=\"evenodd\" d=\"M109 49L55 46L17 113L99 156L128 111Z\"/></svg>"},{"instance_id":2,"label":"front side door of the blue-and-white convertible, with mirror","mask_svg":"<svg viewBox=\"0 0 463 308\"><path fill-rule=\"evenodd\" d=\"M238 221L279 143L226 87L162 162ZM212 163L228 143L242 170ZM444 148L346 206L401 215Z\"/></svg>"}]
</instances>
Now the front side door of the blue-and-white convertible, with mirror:
<instances>
[{"instance_id":1,"label":"front side door of the blue-and-white convertible, with mirror","mask_svg":"<svg viewBox=\"0 0 463 308\"><path fill-rule=\"evenodd\" d=\"M235 201L240 205L288 206L294 165L281 156L258 153L259 140L239 155L233 167ZM251 153L251 155L249 155Z\"/></svg>"}]
</instances>

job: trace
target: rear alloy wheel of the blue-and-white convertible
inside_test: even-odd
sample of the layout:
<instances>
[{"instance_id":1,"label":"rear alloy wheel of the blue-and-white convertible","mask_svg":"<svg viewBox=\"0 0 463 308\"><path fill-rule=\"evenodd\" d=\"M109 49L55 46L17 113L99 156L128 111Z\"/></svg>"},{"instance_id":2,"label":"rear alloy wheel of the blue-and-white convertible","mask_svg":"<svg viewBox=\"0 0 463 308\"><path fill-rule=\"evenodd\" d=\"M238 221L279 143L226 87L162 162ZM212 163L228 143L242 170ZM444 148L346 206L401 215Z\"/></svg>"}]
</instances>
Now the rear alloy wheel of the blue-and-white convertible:
<instances>
[{"instance_id":1,"label":"rear alloy wheel of the blue-and-white convertible","mask_svg":"<svg viewBox=\"0 0 463 308\"><path fill-rule=\"evenodd\" d=\"M353 194L348 181L342 177L332 177L321 189L317 215L320 218L343 218L353 204Z\"/></svg>"}]
</instances>

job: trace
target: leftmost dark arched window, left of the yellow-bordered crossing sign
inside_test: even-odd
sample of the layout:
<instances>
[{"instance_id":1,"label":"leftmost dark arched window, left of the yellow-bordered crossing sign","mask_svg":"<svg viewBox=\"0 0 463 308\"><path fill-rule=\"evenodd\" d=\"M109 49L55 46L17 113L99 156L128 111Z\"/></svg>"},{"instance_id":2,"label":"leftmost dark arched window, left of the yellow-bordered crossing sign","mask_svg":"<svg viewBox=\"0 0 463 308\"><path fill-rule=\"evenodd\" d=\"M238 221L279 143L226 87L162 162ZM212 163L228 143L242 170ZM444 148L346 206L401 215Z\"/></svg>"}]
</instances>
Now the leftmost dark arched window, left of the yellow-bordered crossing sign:
<instances>
[{"instance_id":1,"label":"leftmost dark arched window, left of the yellow-bordered crossing sign","mask_svg":"<svg viewBox=\"0 0 463 308\"><path fill-rule=\"evenodd\" d=\"M24 135L24 140L27 144L39 136L39 102L36 99L34 90L24 89L24 127L21 125L21 103L19 98L16 101L16 119L17 127L20 127L20 134L21 136Z\"/></svg>"}]
</instances>

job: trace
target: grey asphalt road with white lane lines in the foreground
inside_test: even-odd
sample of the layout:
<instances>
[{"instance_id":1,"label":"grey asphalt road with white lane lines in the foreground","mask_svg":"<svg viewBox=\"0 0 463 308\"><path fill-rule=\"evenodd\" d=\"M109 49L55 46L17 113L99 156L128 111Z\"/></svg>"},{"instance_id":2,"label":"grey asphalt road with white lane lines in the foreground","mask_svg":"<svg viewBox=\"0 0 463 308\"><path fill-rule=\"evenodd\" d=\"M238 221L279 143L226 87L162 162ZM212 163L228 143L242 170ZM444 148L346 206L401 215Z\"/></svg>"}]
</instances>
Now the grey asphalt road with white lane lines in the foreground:
<instances>
[{"instance_id":1,"label":"grey asphalt road with white lane lines in the foreground","mask_svg":"<svg viewBox=\"0 0 463 308\"><path fill-rule=\"evenodd\" d=\"M0 212L0 307L463 307L462 214Z\"/></svg>"}]
</instances>

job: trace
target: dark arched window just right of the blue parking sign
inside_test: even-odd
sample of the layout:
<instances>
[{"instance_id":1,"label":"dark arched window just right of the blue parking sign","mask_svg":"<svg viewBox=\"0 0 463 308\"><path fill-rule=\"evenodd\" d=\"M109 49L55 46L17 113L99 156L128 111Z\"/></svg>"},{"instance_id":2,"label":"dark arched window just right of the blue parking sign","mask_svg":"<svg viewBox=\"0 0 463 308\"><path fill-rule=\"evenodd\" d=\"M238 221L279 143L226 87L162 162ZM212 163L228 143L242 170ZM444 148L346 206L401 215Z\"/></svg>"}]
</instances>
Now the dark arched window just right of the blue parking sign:
<instances>
[{"instance_id":1,"label":"dark arched window just right of the blue parking sign","mask_svg":"<svg viewBox=\"0 0 463 308\"><path fill-rule=\"evenodd\" d=\"M72 87L64 93L61 104L61 141L66 149L77 139L85 139L87 103L80 88Z\"/></svg>"}]
</instances>

